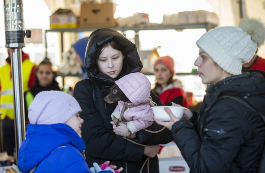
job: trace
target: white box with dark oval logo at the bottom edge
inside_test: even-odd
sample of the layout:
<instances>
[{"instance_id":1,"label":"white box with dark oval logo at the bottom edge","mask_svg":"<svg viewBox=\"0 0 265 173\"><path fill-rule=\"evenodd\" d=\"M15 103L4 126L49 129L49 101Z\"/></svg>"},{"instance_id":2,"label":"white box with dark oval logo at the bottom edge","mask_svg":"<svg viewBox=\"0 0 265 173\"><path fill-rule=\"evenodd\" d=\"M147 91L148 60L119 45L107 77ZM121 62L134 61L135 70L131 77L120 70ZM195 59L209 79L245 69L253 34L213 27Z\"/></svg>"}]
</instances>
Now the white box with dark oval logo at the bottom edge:
<instances>
[{"instance_id":1,"label":"white box with dark oval logo at the bottom edge","mask_svg":"<svg viewBox=\"0 0 265 173\"><path fill-rule=\"evenodd\" d=\"M159 170L163 173L190 172L190 168L183 157L159 158Z\"/></svg>"}]
</instances>

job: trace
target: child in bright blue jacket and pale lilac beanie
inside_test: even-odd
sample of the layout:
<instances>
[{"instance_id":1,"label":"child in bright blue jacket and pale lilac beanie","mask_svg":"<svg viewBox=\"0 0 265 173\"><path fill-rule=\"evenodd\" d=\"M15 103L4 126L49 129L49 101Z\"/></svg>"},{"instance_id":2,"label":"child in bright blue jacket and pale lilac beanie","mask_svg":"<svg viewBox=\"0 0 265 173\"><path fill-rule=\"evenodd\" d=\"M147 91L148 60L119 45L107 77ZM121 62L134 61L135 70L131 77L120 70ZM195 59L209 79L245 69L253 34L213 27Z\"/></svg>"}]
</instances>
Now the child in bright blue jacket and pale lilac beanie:
<instances>
[{"instance_id":1,"label":"child in bright blue jacket and pale lilac beanie","mask_svg":"<svg viewBox=\"0 0 265 173\"><path fill-rule=\"evenodd\" d=\"M67 93L43 91L37 94L29 108L31 124L27 126L25 140L18 151L20 171L90 172L83 157L81 111L78 102Z\"/></svg>"}]
</instances>

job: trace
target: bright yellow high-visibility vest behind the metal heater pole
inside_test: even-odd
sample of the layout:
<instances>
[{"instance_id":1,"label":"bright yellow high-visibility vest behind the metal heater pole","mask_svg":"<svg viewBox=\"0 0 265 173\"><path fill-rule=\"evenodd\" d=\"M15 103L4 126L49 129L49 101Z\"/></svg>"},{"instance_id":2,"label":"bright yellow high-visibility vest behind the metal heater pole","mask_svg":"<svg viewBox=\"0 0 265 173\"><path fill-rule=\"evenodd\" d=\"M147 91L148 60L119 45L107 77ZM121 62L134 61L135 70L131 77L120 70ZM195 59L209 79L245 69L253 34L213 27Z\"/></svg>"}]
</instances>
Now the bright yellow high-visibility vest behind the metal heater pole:
<instances>
[{"instance_id":1,"label":"bright yellow high-visibility vest behind the metal heater pole","mask_svg":"<svg viewBox=\"0 0 265 173\"><path fill-rule=\"evenodd\" d=\"M22 62L22 81L23 81L23 92L29 89L28 83L33 66L29 59L25 59ZM11 65L6 64L0 68L0 112L2 112L1 119L5 119L7 116L9 119L14 120L14 105L13 105L13 85L12 78L10 76ZM12 74L13 75L13 74Z\"/></svg>"}]
</instances>

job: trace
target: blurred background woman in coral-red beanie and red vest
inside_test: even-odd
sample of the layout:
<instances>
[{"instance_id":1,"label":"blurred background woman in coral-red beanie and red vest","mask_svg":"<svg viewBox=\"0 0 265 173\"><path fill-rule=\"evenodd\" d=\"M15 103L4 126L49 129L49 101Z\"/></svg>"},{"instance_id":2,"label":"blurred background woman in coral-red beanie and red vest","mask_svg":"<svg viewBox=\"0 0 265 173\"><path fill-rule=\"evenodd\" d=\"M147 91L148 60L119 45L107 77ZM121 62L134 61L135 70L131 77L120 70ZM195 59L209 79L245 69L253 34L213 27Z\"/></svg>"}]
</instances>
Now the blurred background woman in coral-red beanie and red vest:
<instances>
[{"instance_id":1,"label":"blurred background woman in coral-red beanie and red vest","mask_svg":"<svg viewBox=\"0 0 265 173\"><path fill-rule=\"evenodd\" d=\"M182 89L181 81L174 79L174 60L170 56L163 56L154 62L155 86L153 92L166 106L174 102L188 107L186 93Z\"/></svg>"}]
</instances>

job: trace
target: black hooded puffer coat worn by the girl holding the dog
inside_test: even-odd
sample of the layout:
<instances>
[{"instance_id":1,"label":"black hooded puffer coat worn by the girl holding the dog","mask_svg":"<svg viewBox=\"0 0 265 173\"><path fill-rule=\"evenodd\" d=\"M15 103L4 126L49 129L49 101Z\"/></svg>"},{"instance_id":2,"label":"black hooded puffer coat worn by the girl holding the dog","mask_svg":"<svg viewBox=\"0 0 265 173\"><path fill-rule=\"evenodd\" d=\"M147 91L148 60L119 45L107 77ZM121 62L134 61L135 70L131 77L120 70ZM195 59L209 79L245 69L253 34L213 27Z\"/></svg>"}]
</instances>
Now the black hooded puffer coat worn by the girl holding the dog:
<instances>
[{"instance_id":1,"label":"black hooded puffer coat worn by the girl holding the dog","mask_svg":"<svg viewBox=\"0 0 265 173\"><path fill-rule=\"evenodd\" d=\"M101 45L114 40L123 46L124 54L123 67L116 79L101 73L97 66L97 57L101 50ZM143 155L144 147L116 135L110 122L111 113L116 107L116 103L105 103L103 98L110 93L110 88L114 81L126 74L140 72L142 63L135 44L131 43L123 35L111 28L101 28L90 35L85 57L85 69L89 79L83 79L76 83L73 96L82 108L80 114L84 119L82 125L82 138L86 143L86 161L89 166L93 162L103 163L110 160L111 164L123 167L123 172L140 172L146 156ZM163 105L158 97L152 92L151 96L158 105ZM148 128L157 131L163 127L155 122ZM163 130L160 133L149 133L141 130L136 133L133 140L144 145L158 145L168 143L172 140L171 132ZM149 162L150 172L159 172L158 158L155 156ZM143 172L147 172L145 165Z\"/></svg>"}]
</instances>

